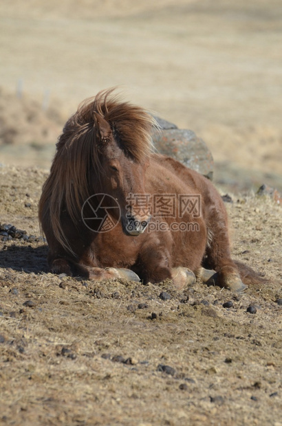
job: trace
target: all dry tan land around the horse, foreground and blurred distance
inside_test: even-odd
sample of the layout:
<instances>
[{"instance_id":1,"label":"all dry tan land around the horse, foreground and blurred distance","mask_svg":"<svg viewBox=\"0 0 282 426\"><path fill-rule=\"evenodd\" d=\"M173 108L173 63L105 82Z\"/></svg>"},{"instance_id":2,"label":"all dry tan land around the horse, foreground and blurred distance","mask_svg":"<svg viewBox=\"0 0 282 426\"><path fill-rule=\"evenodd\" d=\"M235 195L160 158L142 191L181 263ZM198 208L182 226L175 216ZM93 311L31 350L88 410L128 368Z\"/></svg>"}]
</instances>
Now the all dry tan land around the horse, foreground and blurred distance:
<instances>
[{"instance_id":1,"label":"all dry tan land around the horse, foreground and blurred distance","mask_svg":"<svg viewBox=\"0 0 282 426\"><path fill-rule=\"evenodd\" d=\"M0 425L282 426L281 205L255 195L282 190L281 43L281 0L0 2L0 227L15 227L0 236ZM205 140L233 257L268 282L237 295L48 273L37 206L56 137L116 85Z\"/></svg>"}]
</instances>

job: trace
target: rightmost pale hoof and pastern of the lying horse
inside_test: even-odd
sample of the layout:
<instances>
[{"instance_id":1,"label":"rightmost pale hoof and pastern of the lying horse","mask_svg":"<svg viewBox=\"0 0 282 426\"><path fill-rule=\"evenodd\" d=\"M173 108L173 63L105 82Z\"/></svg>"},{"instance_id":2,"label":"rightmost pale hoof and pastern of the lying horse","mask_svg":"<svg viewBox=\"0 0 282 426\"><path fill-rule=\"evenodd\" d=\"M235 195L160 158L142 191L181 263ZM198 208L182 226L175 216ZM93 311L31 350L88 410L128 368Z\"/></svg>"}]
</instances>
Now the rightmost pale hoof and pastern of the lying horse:
<instances>
[{"instance_id":1,"label":"rightmost pale hoof and pastern of the lying horse","mask_svg":"<svg viewBox=\"0 0 282 426\"><path fill-rule=\"evenodd\" d=\"M206 284L218 285L219 287L225 287L231 291L242 293L248 286L244 284L239 276L239 272L230 266L222 267L219 272L214 273L207 281Z\"/></svg>"}]
</instances>

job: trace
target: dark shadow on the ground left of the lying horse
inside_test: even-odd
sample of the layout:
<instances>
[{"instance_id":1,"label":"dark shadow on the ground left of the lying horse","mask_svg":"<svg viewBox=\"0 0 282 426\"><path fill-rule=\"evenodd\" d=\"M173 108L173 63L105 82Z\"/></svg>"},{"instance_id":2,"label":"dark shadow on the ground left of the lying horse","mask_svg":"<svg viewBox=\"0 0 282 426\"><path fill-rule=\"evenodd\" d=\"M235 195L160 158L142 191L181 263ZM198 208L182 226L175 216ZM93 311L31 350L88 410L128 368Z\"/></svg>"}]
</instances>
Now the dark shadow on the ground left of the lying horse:
<instances>
[{"instance_id":1,"label":"dark shadow on the ground left of the lying horse","mask_svg":"<svg viewBox=\"0 0 282 426\"><path fill-rule=\"evenodd\" d=\"M0 251L0 267L28 273L48 272L47 252L47 245L36 248L11 245Z\"/></svg>"}]
</instances>

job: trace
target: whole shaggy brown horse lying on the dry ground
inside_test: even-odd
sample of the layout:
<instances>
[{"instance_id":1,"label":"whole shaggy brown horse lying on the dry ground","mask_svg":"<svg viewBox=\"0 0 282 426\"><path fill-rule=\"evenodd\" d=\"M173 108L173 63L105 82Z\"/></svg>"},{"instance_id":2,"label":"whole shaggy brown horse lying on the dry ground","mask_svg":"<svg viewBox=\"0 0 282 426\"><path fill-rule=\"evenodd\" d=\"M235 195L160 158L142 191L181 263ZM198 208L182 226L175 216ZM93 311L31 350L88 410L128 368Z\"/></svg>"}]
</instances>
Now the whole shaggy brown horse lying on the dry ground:
<instances>
[{"instance_id":1,"label":"whole shaggy brown horse lying on the dry ground","mask_svg":"<svg viewBox=\"0 0 282 426\"><path fill-rule=\"evenodd\" d=\"M252 273L230 258L226 209L213 184L153 153L153 117L111 92L80 104L58 140L39 203L51 271L171 278L177 288L196 275L246 289L242 273Z\"/></svg>"}]
</instances>

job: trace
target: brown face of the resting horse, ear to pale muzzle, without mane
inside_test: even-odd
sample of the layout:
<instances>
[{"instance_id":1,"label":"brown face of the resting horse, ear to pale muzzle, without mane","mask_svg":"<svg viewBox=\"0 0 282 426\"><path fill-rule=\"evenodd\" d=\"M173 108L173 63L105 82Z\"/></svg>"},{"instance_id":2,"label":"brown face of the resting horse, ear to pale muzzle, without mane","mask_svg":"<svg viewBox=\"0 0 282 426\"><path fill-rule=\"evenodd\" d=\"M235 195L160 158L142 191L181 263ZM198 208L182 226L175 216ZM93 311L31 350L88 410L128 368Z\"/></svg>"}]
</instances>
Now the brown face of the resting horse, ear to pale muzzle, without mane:
<instances>
[{"instance_id":1,"label":"brown face of the resting horse, ear to pale muzzle, without mane","mask_svg":"<svg viewBox=\"0 0 282 426\"><path fill-rule=\"evenodd\" d=\"M99 179L95 177L96 191L111 195L113 202L116 200L118 203L124 234L138 236L144 232L151 218L151 196L145 189L149 155L144 152L144 146L141 150L138 144L131 146L129 139L134 137L134 133L138 139L138 128L134 129L133 123L131 129L124 128L124 123L123 126L118 123L111 125L99 114L94 115L94 122L100 170ZM143 143L146 144L146 141ZM111 214L117 215L118 210L112 209Z\"/></svg>"}]
</instances>

